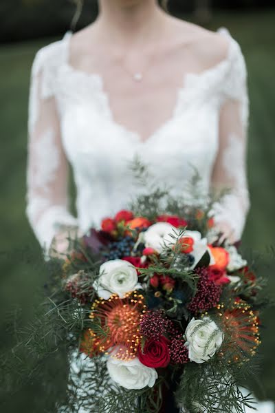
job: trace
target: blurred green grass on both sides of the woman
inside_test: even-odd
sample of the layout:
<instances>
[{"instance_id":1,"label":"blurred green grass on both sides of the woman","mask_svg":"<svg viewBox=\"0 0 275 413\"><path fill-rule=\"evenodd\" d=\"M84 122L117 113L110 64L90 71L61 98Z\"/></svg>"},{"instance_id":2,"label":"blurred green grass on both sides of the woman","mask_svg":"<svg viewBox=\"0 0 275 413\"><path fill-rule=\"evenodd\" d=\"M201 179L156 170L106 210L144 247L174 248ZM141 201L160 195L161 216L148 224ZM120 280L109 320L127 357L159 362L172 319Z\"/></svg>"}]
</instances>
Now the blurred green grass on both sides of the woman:
<instances>
[{"instance_id":1,"label":"blurred green grass on both sides of the woman","mask_svg":"<svg viewBox=\"0 0 275 413\"><path fill-rule=\"evenodd\" d=\"M219 14L214 16L212 29L229 28L241 44L248 65L250 91L250 131L248 146L248 176L252 208L243 236L243 246L265 253L275 245L275 12L257 14ZM1 339L10 343L4 331L4 315L17 303L23 306L23 319L32 317L36 292L46 277L39 269L39 245L25 218L25 167L27 157L27 114L30 66L36 50L54 39L1 46L0 48L0 122L1 122ZM37 256L30 264L25 246ZM270 293L275 295L274 260L270 264ZM35 268L34 268L35 267ZM275 335L274 310L267 310L263 319L263 345L259 375L263 390L275 399ZM2 348L3 348L2 346ZM261 398L263 393L257 390ZM40 400L40 405L39 405ZM18 396L5 404L5 412L43 412L43 387L38 383L26 386ZM40 406L40 407L38 407Z\"/></svg>"}]
</instances>

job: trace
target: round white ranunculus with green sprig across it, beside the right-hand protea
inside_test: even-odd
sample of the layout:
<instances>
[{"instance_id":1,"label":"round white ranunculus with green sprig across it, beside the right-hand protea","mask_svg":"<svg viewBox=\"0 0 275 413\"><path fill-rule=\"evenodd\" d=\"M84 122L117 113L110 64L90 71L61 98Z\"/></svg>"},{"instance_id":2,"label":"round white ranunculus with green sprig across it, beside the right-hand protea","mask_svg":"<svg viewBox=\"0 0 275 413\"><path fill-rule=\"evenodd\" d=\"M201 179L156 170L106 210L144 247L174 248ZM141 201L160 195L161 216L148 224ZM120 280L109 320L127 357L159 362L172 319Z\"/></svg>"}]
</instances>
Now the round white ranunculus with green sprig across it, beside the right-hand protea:
<instances>
[{"instance_id":1,"label":"round white ranunculus with green sprig across it, beside the right-hand protea","mask_svg":"<svg viewBox=\"0 0 275 413\"><path fill-rule=\"evenodd\" d=\"M195 320L192 318L185 332L188 348L188 357L195 363L204 363L214 356L223 342L223 332L217 324L210 319Z\"/></svg>"}]
</instances>

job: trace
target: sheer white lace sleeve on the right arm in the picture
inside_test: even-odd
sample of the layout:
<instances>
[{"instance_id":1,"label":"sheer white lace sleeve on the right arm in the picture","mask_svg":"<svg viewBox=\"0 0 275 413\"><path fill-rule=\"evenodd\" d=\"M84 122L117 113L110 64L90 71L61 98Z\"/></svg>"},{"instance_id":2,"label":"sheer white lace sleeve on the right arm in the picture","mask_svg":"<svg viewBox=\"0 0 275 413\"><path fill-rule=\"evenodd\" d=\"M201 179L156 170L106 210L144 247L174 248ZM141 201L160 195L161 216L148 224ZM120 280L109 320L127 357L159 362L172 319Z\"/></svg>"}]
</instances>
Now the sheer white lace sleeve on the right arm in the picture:
<instances>
[{"instance_id":1,"label":"sheer white lace sleeve on the right arm in the picture","mask_svg":"<svg viewBox=\"0 0 275 413\"><path fill-rule=\"evenodd\" d=\"M217 229L231 242L240 240L250 207L246 175L248 129L247 72L239 44L231 38L234 54L221 92L219 151L212 173L212 184L227 189L214 205Z\"/></svg>"}]
</instances>

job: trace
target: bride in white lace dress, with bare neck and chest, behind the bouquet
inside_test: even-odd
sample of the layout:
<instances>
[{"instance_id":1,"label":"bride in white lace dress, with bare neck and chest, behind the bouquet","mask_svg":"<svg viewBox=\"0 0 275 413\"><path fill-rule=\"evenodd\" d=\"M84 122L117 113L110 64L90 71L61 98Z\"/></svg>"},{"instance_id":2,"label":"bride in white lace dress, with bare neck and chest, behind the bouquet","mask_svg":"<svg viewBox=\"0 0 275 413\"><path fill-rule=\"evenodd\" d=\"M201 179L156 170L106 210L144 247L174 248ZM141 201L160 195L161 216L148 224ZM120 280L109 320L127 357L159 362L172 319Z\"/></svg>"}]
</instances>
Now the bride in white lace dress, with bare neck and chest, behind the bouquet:
<instances>
[{"instance_id":1,"label":"bride in white lace dress, with bare neck and chest, behind the bouquet","mask_svg":"<svg viewBox=\"0 0 275 413\"><path fill-rule=\"evenodd\" d=\"M175 193L194 167L202 191L230 187L215 222L236 242L250 204L239 44L225 29L171 17L156 0L99 0L99 10L87 28L39 50L32 67L26 213L45 259L66 250L68 232L83 235L126 206L135 155ZM273 411L269 402L257 408Z\"/></svg>"}]
</instances>

